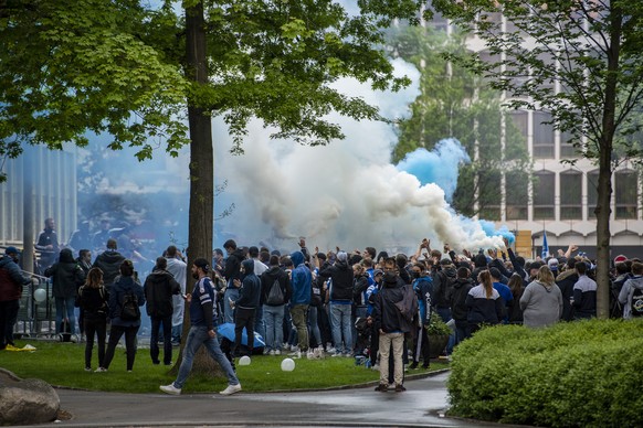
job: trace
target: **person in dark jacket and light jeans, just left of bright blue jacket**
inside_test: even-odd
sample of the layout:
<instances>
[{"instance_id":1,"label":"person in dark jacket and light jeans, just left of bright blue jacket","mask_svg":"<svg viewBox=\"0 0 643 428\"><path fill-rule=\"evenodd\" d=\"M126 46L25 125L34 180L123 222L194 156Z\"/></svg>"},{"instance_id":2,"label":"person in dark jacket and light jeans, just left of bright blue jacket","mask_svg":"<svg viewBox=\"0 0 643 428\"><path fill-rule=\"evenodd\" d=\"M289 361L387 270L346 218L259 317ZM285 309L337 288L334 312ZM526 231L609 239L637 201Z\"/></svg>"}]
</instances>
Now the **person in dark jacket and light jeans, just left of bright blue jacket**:
<instances>
[{"instance_id":1,"label":"person in dark jacket and light jeans, just left of bright blue jacket","mask_svg":"<svg viewBox=\"0 0 643 428\"><path fill-rule=\"evenodd\" d=\"M261 304L265 322L264 352L281 355L284 342L284 311L293 289L288 274L280 267L280 256L272 255L268 264L268 269L261 276Z\"/></svg>"}]
</instances>

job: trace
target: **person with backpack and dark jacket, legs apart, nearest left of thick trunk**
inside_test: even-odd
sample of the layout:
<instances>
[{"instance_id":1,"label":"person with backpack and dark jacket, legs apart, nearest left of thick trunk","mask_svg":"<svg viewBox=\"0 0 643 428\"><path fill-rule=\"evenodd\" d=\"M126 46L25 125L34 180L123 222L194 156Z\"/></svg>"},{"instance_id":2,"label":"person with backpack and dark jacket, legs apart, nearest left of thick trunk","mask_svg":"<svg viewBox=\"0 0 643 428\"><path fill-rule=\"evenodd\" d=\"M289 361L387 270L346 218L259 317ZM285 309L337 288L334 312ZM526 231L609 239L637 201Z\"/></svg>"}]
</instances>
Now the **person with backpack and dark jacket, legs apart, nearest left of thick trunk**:
<instances>
[{"instance_id":1,"label":"person with backpack and dark jacket, legs apart, nearest left of thick trunk","mask_svg":"<svg viewBox=\"0 0 643 428\"><path fill-rule=\"evenodd\" d=\"M114 359L118 341L125 334L125 352L127 354L127 371L131 372L136 356L136 334L140 328L140 309L145 304L145 293L138 279L134 278L134 264L125 259L120 264L120 276L117 277L109 290L109 319L112 329L109 342L105 352L103 370L106 372ZM136 312L138 309L138 312Z\"/></svg>"}]
</instances>

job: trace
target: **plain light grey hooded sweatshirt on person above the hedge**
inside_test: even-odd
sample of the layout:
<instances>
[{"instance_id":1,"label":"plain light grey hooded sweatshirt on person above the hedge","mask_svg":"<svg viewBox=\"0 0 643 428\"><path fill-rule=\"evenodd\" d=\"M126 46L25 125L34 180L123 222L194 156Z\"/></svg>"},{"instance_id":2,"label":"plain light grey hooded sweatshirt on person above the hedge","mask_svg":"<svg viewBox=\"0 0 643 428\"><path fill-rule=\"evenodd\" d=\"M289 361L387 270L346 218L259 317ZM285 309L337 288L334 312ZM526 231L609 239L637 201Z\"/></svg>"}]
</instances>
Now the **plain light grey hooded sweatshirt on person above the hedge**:
<instances>
[{"instance_id":1,"label":"plain light grey hooded sweatshirt on person above the hedge","mask_svg":"<svg viewBox=\"0 0 643 428\"><path fill-rule=\"evenodd\" d=\"M530 282L520 298L523 323L526 327L547 327L562 314L562 293L556 283Z\"/></svg>"}]
</instances>

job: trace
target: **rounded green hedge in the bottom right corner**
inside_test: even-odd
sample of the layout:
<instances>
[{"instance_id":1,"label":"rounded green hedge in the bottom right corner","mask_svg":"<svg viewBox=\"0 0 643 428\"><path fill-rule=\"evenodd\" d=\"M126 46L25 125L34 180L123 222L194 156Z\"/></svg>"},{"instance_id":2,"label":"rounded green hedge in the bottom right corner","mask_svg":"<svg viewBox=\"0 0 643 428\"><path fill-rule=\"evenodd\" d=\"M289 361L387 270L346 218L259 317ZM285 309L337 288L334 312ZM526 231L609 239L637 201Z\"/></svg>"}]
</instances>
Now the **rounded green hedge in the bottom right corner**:
<instances>
[{"instance_id":1,"label":"rounded green hedge in the bottom right corner","mask_svg":"<svg viewBox=\"0 0 643 428\"><path fill-rule=\"evenodd\" d=\"M551 427L643 426L643 320L483 329L453 352L450 414Z\"/></svg>"}]
</instances>

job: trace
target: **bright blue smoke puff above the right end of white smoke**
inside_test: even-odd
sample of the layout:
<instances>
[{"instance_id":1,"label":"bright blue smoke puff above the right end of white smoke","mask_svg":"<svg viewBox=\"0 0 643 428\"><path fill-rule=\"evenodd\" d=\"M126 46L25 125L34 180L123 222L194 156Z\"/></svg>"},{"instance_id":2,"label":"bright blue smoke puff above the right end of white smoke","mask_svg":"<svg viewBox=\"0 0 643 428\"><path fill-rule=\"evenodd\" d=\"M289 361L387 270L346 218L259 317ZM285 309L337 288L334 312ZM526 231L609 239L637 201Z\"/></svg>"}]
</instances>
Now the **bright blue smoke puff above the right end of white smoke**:
<instances>
[{"instance_id":1,"label":"bright blue smoke puff above the right end of white smoke","mask_svg":"<svg viewBox=\"0 0 643 428\"><path fill-rule=\"evenodd\" d=\"M415 175L422 185L438 184L444 191L446 202L451 202L457 186L458 167L470 162L462 143L455 138L445 138L432 151L420 148L408 153L397 168Z\"/></svg>"}]
</instances>

